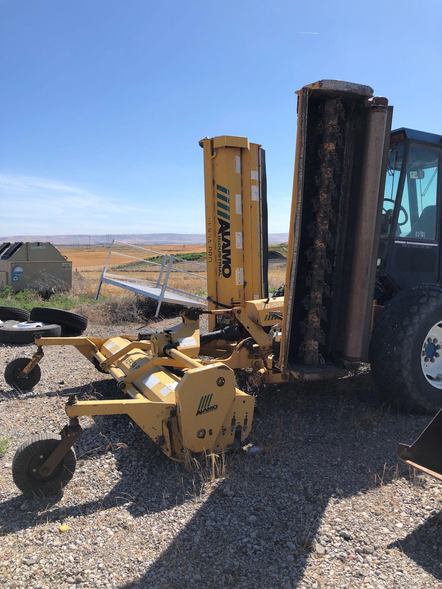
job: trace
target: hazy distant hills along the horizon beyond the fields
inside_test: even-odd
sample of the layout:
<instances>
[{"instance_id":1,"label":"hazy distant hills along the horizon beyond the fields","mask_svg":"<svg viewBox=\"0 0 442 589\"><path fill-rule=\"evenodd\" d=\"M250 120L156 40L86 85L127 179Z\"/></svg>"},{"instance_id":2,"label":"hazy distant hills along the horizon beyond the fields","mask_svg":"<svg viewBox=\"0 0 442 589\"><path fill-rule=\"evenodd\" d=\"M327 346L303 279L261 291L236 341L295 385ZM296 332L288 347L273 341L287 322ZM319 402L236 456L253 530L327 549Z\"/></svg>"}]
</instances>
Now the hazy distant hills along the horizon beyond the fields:
<instances>
[{"instance_id":1,"label":"hazy distant hills along the horizon beyond the fields","mask_svg":"<svg viewBox=\"0 0 442 589\"><path fill-rule=\"evenodd\" d=\"M126 243L149 244L182 244L182 243L206 243L204 233L120 233L113 234L111 239L125 241ZM269 233L269 243L282 243L288 241L288 233ZM54 245L73 246L80 243L101 245L107 243L105 234L97 235L9 235L0 237L2 241L50 241Z\"/></svg>"}]
</instances>

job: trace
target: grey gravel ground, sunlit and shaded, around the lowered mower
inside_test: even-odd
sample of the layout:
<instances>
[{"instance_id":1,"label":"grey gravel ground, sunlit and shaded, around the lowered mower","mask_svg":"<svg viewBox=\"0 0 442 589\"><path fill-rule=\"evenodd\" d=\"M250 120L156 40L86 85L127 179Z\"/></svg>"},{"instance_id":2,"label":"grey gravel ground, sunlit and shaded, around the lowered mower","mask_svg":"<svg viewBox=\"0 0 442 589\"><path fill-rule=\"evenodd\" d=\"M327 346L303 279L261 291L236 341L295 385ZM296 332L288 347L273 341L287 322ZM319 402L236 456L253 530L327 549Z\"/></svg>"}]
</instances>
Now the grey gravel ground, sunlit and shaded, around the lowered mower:
<instances>
[{"instance_id":1,"label":"grey gravel ground, sunlit and shaded, around the lowered mower","mask_svg":"<svg viewBox=\"0 0 442 589\"><path fill-rule=\"evenodd\" d=\"M1 345L1 374L32 351ZM268 453L192 472L125 416L84 418L74 479L38 502L12 482L15 449L60 431L68 394L117 397L72 348L45 350L42 373L20 396L0 377L0 432L11 439L0 456L1 587L442 588L442 487L396 458L429 418L381 408L368 371L266 389L249 442Z\"/></svg>"}]
</instances>

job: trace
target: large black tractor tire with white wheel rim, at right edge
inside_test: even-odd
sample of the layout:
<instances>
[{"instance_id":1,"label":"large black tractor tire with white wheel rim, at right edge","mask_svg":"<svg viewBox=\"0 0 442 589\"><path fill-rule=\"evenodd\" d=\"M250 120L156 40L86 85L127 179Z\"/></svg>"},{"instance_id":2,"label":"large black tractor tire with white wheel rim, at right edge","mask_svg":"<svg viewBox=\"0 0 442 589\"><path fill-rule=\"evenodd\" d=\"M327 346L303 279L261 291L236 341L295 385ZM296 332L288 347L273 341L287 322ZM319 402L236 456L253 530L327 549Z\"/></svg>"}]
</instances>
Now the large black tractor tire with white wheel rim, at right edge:
<instances>
[{"instance_id":1,"label":"large black tractor tire with white wheel rim, at right edge","mask_svg":"<svg viewBox=\"0 0 442 589\"><path fill-rule=\"evenodd\" d=\"M442 406L442 287L401 292L378 316L370 340L371 373L382 397L404 411Z\"/></svg>"}]
</instances>

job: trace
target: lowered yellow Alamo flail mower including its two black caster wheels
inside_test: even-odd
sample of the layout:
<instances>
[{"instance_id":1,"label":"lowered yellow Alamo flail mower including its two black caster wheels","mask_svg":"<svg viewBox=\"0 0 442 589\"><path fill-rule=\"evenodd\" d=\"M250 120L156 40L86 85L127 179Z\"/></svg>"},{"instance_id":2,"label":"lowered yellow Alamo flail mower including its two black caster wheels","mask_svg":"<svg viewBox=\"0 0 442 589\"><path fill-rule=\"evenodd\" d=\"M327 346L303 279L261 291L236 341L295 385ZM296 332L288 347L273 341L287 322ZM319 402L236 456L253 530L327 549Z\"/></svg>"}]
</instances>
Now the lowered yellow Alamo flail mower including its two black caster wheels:
<instances>
[{"instance_id":1,"label":"lowered yellow Alamo flail mower including its two black caster wheels","mask_svg":"<svg viewBox=\"0 0 442 589\"><path fill-rule=\"evenodd\" d=\"M253 305L264 307L262 313L268 313L275 302L265 305L256 301ZM200 337L202 313L230 316L232 322L216 336ZM76 462L72 445L83 431L78 419L81 416L124 413L176 461L186 460L189 454L239 448L252 426L255 399L236 388L233 367L248 365L257 378L267 372L273 334L262 331L261 346L248 335L241 338L243 323L250 323L243 307L218 312L192 308L183 310L180 316L179 325L149 336L41 337L35 340L37 352L31 359L9 363L9 383L29 389L41 376L38 363L46 346L74 346L98 370L113 376L124 393L121 399L103 401L79 401L71 395L65 405L69 422L60 434L39 434L18 448L12 476L25 495L60 491L70 481ZM214 337L225 338L225 349L217 350L222 361L197 360L204 353L201 339L210 343ZM233 338L240 341L227 343ZM213 355L215 350L205 351Z\"/></svg>"}]
</instances>

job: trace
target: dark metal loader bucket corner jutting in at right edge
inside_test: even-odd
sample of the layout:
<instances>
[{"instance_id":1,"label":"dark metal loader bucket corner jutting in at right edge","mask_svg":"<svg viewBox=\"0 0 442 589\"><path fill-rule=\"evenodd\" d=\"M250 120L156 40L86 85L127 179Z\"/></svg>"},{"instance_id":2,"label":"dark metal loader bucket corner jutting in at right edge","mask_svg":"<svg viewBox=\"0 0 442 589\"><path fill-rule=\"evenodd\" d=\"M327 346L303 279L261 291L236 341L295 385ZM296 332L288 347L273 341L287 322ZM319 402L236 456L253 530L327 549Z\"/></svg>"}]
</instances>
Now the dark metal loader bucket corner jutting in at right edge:
<instances>
[{"instance_id":1,"label":"dark metal loader bucket corner jutting in at right edge","mask_svg":"<svg viewBox=\"0 0 442 589\"><path fill-rule=\"evenodd\" d=\"M442 481L442 409L411 446L398 445L401 460Z\"/></svg>"}]
</instances>

